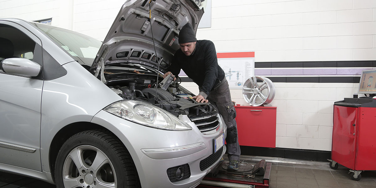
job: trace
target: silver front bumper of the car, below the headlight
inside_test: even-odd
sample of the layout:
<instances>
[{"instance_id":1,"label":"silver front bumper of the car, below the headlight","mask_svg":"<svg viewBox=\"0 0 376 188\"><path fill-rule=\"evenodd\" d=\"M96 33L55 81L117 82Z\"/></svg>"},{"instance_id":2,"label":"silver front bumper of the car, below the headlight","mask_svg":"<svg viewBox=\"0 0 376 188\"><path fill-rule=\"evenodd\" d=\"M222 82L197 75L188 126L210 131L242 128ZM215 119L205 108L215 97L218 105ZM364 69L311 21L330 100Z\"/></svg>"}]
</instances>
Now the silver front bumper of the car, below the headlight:
<instances>
[{"instance_id":1,"label":"silver front bumper of the car, below the headlight","mask_svg":"<svg viewBox=\"0 0 376 188\"><path fill-rule=\"evenodd\" d=\"M194 123L190 124L192 130L161 130L132 123L106 111L95 115L92 123L111 130L124 143L136 165L142 187L195 187L226 152L226 146L223 146L218 150L220 153L212 155L214 138L226 134L226 126L222 123L211 135L202 134ZM200 162L208 158L211 159L209 165L200 169ZM171 182L167 169L185 164L190 167L190 177Z\"/></svg>"}]
</instances>

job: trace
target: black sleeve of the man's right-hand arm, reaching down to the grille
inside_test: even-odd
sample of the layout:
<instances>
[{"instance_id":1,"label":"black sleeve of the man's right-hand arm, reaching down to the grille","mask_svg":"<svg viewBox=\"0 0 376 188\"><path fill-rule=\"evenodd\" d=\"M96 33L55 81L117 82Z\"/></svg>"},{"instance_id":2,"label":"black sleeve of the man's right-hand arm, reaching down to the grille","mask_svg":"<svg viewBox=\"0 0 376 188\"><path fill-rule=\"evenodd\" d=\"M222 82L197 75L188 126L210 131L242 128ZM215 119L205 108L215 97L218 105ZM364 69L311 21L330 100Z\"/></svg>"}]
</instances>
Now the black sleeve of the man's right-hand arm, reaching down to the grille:
<instances>
[{"instance_id":1,"label":"black sleeve of the man's right-hand arm, reaching down to the grille","mask_svg":"<svg viewBox=\"0 0 376 188\"><path fill-rule=\"evenodd\" d=\"M205 49L205 78L200 88L200 93L204 92L206 96L202 95L205 99L214 86L215 80L218 77L218 61L217 52L215 51L214 43L210 41L208 47Z\"/></svg>"}]
</instances>

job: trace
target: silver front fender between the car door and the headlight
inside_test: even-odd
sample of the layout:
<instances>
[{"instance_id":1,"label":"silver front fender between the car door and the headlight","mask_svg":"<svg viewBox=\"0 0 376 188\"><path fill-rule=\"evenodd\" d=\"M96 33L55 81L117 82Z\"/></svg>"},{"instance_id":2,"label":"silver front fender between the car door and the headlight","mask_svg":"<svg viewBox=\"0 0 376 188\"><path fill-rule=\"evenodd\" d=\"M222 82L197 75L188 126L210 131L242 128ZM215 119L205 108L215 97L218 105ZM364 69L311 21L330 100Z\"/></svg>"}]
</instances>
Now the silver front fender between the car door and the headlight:
<instances>
[{"instance_id":1,"label":"silver front fender between the car door and the headlight","mask_svg":"<svg viewBox=\"0 0 376 188\"><path fill-rule=\"evenodd\" d=\"M63 67L67 75L47 80L43 87L41 155L44 171L50 171L50 144L59 130L71 123L90 122L97 112L122 100L76 61Z\"/></svg>"}]
</instances>

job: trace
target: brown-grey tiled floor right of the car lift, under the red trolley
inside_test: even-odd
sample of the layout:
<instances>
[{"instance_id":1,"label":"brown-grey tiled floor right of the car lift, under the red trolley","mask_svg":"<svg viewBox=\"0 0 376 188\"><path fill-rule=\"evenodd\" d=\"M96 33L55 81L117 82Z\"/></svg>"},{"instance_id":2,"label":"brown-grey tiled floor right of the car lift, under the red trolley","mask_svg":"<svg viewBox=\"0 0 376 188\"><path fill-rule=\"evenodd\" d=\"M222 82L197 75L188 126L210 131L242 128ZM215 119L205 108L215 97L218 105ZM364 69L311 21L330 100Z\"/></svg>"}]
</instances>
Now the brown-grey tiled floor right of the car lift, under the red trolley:
<instances>
[{"instance_id":1,"label":"brown-grey tiled floor right of the car lift, under the red trolley","mask_svg":"<svg viewBox=\"0 0 376 188\"><path fill-rule=\"evenodd\" d=\"M339 165L337 170L329 163L320 165L271 165L270 188L376 188L376 172L364 171L361 180L350 179L349 168Z\"/></svg>"}]
</instances>

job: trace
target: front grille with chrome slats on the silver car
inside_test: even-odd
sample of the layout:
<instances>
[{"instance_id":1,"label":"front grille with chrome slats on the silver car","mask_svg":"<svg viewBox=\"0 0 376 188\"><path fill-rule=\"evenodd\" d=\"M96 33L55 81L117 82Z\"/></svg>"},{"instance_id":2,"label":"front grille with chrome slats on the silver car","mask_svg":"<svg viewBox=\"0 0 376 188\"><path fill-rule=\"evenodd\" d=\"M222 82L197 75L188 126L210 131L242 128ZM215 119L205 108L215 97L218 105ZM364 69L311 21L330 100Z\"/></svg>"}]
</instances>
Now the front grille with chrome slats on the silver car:
<instances>
[{"instance_id":1,"label":"front grille with chrome slats on the silver car","mask_svg":"<svg viewBox=\"0 0 376 188\"><path fill-rule=\"evenodd\" d=\"M219 117L217 117L217 113L191 116L190 119L196 124L197 128L199 128L202 133L217 129L219 126Z\"/></svg>"}]
</instances>

